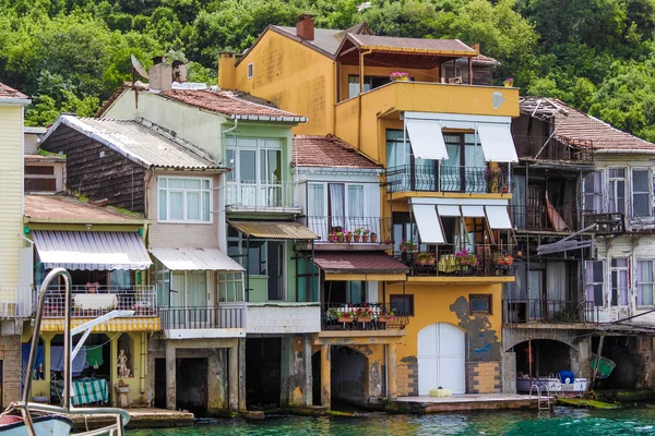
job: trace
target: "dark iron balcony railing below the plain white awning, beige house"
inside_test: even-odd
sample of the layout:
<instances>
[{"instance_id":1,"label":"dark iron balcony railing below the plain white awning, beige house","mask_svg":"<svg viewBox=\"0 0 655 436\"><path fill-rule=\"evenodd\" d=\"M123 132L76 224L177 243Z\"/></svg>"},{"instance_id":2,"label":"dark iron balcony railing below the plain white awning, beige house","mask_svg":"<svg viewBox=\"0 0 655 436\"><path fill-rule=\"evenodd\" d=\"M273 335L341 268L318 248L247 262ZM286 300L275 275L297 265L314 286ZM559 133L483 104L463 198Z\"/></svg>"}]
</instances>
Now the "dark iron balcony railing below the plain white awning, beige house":
<instances>
[{"instance_id":1,"label":"dark iron balcony railing below the plain white awning, beige house","mask_svg":"<svg viewBox=\"0 0 655 436\"><path fill-rule=\"evenodd\" d=\"M245 328L246 307L159 307L162 328Z\"/></svg>"}]
</instances>

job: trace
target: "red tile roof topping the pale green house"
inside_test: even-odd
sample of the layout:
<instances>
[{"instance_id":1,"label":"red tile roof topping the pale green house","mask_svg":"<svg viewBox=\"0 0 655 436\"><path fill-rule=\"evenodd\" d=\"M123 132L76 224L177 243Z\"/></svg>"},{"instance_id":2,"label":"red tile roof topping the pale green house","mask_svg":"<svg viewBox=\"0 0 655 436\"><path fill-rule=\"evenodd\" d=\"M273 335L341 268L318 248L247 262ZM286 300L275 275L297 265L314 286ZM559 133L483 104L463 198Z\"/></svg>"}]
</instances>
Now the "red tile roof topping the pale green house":
<instances>
[{"instance_id":1,"label":"red tile roof topping the pale green house","mask_svg":"<svg viewBox=\"0 0 655 436\"><path fill-rule=\"evenodd\" d=\"M217 92L212 89L172 89L164 90L160 95L187 105L230 117L254 116L265 118L299 118L299 116L285 110L245 100L230 92Z\"/></svg>"}]
</instances>

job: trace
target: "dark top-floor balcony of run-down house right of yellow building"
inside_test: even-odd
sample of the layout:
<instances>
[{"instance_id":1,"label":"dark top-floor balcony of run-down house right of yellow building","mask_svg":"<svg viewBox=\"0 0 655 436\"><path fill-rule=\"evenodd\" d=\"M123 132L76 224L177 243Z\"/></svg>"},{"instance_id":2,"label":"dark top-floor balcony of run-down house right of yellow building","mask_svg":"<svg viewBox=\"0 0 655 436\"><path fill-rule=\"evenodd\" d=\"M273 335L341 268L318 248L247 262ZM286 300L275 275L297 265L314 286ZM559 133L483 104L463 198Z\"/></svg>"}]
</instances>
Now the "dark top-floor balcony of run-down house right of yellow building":
<instances>
[{"instance_id":1,"label":"dark top-floor balcony of run-down house right of yellow building","mask_svg":"<svg viewBox=\"0 0 655 436\"><path fill-rule=\"evenodd\" d=\"M593 165L594 148L591 141L567 144L551 137L512 135L519 156L529 156L535 160L556 160L558 164L575 162ZM569 167L565 167L567 170ZM593 168L592 168L593 169Z\"/></svg>"}]
</instances>

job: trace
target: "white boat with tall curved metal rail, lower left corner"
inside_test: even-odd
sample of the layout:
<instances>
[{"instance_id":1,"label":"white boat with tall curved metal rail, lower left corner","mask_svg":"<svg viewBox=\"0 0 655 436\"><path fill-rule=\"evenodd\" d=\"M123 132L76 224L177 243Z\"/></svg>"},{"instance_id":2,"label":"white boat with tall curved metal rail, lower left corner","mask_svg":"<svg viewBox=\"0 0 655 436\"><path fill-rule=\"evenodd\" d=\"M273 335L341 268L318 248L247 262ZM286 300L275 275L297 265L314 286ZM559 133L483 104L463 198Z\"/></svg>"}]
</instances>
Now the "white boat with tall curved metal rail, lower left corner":
<instances>
[{"instance_id":1,"label":"white boat with tall curved metal rail, lower left corner","mask_svg":"<svg viewBox=\"0 0 655 436\"><path fill-rule=\"evenodd\" d=\"M34 320L34 334L32 335L32 348L29 350L29 360L27 367L34 367L36 349L40 334L41 318L44 314L44 304L46 301L46 290L52 280L58 276L63 278L66 283L66 322L63 332L63 404L51 405L39 402L31 402L32 383L25 383L23 391L23 400L12 403L4 413L0 414L0 436L68 436L71 435L73 421L70 415L104 415L114 416L116 423L102 428L78 433L78 436L95 436L95 435L124 435L124 425L130 421L130 414L118 408L74 408L71 404L72 395L72 364L75 354L82 348L84 341L91 334L93 327L105 323L118 316L133 315L133 311L111 311L106 315L95 318L82 326L71 329L71 276L63 268L52 269L44 279L39 289L38 304L36 308L36 318ZM73 349L73 335L82 334L82 339L78 341ZM21 412L21 415L12 414L12 412ZM32 416L32 412L46 413L41 416Z\"/></svg>"}]
</instances>

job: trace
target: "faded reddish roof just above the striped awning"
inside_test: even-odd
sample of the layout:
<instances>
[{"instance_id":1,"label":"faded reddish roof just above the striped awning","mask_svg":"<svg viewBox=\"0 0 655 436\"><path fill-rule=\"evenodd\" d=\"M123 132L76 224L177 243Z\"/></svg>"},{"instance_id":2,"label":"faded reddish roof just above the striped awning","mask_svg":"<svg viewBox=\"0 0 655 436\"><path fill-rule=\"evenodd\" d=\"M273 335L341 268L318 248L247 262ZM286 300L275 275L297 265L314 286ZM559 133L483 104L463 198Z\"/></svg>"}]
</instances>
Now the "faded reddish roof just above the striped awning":
<instances>
[{"instance_id":1,"label":"faded reddish roof just above the striped awning","mask_svg":"<svg viewBox=\"0 0 655 436\"><path fill-rule=\"evenodd\" d=\"M58 221L112 220L126 221L142 219L120 214L107 207L92 206L75 197L63 195L25 194L25 217L35 219L55 219Z\"/></svg>"}]
</instances>

